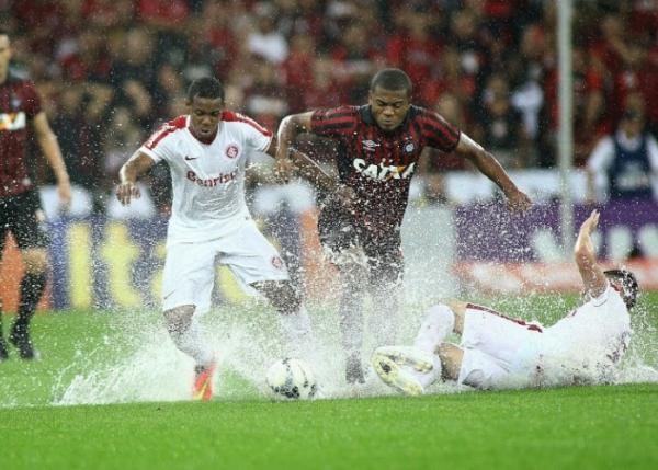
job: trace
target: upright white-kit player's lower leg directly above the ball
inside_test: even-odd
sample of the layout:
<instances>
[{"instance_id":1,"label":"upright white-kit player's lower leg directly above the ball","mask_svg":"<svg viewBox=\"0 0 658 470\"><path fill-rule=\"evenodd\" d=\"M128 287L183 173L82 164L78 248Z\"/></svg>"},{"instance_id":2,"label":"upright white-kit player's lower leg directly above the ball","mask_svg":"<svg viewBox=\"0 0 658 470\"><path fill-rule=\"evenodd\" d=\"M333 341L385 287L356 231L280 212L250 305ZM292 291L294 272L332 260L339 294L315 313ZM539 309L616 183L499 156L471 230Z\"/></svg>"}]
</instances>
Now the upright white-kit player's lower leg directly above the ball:
<instances>
[{"instance_id":1,"label":"upright white-kit player's lower leg directly above the ball","mask_svg":"<svg viewBox=\"0 0 658 470\"><path fill-rule=\"evenodd\" d=\"M316 346L310 319L293 284L290 280L265 280L251 284L251 287L265 296L281 313L279 319L290 354L308 357Z\"/></svg>"}]
</instances>

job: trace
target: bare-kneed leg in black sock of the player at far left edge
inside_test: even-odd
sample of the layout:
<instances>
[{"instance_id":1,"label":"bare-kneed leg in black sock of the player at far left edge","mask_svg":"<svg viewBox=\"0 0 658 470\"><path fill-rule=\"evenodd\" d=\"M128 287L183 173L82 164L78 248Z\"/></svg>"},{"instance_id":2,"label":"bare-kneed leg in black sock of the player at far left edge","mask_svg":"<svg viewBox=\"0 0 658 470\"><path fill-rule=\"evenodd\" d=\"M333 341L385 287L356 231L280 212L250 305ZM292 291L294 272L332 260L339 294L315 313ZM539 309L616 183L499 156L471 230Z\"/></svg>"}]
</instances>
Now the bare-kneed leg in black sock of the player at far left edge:
<instances>
[{"instance_id":1,"label":"bare-kneed leg in black sock of the player at far left edge","mask_svg":"<svg viewBox=\"0 0 658 470\"><path fill-rule=\"evenodd\" d=\"M21 252L25 274L21 279L19 311L11 328L9 341L23 359L33 359L34 346L30 339L30 322L46 288L48 252L45 248L31 248Z\"/></svg>"}]
</instances>

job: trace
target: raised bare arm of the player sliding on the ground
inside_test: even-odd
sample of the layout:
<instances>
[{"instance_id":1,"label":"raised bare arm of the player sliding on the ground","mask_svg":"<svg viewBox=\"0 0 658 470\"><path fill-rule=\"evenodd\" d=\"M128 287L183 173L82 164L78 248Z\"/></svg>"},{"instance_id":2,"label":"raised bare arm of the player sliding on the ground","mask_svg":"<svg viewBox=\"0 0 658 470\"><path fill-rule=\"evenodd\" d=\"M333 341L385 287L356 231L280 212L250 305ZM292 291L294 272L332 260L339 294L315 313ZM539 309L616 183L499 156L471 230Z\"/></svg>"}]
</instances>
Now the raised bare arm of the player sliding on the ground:
<instances>
[{"instance_id":1,"label":"raised bare arm of the player sliding on the ground","mask_svg":"<svg viewBox=\"0 0 658 470\"><path fill-rule=\"evenodd\" d=\"M598 210L592 210L592 214L582 222L578 232L578 239L576 240L576 247L574 248L576 264L578 265L578 271L580 271L585 290L592 297L599 297L608 288L608 279L597 262L594 244L591 239L592 232L599 225L599 216Z\"/></svg>"}]
</instances>

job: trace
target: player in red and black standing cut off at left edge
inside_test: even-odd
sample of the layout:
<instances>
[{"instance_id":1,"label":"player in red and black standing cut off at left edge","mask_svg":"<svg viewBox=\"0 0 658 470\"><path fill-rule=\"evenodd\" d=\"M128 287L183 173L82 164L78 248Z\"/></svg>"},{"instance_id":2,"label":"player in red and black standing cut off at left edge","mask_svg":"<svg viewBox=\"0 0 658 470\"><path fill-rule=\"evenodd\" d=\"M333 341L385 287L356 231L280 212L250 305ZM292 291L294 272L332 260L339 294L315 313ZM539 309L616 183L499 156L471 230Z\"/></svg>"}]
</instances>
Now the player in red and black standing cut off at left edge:
<instances>
[{"instance_id":1,"label":"player in red and black standing cut off at left edge","mask_svg":"<svg viewBox=\"0 0 658 470\"><path fill-rule=\"evenodd\" d=\"M42 228L43 210L27 169L31 131L57 177L60 203L65 207L70 203L71 188L57 138L41 107L34 83L15 77L9 69L10 59L10 37L7 31L0 30L0 259L11 232L21 251L25 275L9 340L22 358L31 359L34 348L30 320L44 291L48 270L48 237ZM1 320L0 314L0 359L8 357Z\"/></svg>"}]
</instances>

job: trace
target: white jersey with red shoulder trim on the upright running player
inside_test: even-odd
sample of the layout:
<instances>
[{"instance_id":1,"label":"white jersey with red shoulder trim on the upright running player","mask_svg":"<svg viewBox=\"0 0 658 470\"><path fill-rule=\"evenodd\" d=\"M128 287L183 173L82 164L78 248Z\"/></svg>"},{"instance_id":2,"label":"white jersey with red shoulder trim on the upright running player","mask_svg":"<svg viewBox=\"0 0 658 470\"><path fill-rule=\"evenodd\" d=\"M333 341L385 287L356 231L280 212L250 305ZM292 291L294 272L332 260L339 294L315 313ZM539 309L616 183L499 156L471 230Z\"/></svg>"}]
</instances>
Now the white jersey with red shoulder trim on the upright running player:
<instances>
[{"instance_id":1,"label":"white jersey with red shoulder trim on the upright running player","mask_svg":"<svg viewBox=\"0 0 658 470\"><path fill-rule=\"evenodd\" d=\"M250 219L245 202L245 162L265 151L272 133L237 113L222 113L211 144L190 131L190 116L161 126L138 151L169 164L173 186L168 241L201 242L230 233Z\"/></svg>"}]
</instances>

